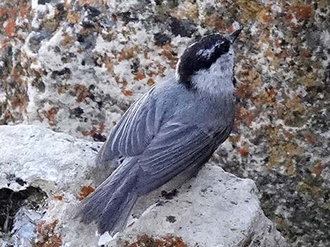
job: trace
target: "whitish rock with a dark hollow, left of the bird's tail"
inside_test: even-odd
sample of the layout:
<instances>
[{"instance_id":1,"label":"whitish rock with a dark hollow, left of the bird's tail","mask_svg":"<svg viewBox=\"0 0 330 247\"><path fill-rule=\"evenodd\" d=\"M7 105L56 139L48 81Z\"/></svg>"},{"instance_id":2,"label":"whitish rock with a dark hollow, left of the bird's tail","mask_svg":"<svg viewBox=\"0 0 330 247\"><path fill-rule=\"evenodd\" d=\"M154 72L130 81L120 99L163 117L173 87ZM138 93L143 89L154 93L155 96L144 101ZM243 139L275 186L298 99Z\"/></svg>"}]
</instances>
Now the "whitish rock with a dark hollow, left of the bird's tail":
<instances>
[{"instance_id":1,"label":"whitish rock with a dark hollow, left of the bird's tail","mask_svg":"<svg viewBox=\"0 0 330 247\"><path fill-rule=\"evenodd\" d=\"M57 225L46 222L57 222L84 188L95 187L91 171L101 143L32 125L3 125L0 133L0 236L31 246Z\"/></svg>"}]
</instances>

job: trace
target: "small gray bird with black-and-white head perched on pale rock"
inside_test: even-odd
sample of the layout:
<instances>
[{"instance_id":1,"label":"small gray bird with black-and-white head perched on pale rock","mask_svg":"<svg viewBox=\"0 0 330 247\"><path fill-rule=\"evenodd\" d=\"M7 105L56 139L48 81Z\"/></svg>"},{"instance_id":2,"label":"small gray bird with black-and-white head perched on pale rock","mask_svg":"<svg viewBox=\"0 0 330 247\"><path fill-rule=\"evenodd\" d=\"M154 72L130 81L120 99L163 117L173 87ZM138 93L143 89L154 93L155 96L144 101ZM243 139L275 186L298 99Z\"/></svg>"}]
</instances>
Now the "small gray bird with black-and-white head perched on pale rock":
<instances>
[{"instance_id":1,"label":"small gray bird with black-and-white head perched on pale rock","mask_svg":"<svg viewBox=\"0 0 330 247\"><path fill-rule=\"evenodd\" d=\"M235 118L234 41L209 34L189 45L176 73L135 101L107 137L97 166L112 174L78 204L75 218L114 236L138 197L196 175L229 136Z\"/></svg>"}]
</instances>

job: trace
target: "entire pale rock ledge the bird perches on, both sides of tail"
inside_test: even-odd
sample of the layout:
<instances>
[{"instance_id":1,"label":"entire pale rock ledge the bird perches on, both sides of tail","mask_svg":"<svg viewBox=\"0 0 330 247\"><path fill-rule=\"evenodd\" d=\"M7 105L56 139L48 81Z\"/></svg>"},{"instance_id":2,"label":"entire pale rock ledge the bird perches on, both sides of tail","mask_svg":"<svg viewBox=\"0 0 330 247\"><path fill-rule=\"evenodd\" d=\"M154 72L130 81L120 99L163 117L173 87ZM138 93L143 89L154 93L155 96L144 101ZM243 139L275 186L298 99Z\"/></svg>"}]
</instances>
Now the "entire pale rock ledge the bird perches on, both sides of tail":
<instances>
[{"instance_id":1,"label":"entire pale rock ledge the bird perches on, both sides of tail","mask_svg":"<svg viewBox=\"0 0 330 247\"><path fill-rule=\"evenodd\" d=\"M141 198L134 214L147 210L140 219L131 218L116 239L100 238L94 225L70 218L79 199L91 192L86 188L93 185L88 174L95 170L98 143L33 125L2 126L0 133L0 199L11 202L0 204L0 211L5 206L11 211L18 193L27 195L9 213L12 234L1 229L1 246L287 246L263 214L253 181L211 164L176 192L166 192L173 186L168 183ZM11 196L3 197L7 190Z\"/></svg>"}]
</instances>

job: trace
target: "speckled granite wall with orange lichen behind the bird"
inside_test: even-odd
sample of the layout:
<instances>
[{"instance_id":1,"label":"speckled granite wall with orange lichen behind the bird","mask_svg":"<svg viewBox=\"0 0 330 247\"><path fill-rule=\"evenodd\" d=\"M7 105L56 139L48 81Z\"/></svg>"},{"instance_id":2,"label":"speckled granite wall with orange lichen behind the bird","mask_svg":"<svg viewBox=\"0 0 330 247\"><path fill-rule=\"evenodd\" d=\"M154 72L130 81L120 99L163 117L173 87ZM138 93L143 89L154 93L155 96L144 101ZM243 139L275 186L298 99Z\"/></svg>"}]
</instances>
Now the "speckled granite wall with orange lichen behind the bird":
<instances>
[{"instance_id":1,"label":"speckled granite wall with orange lichen behind the bird","mask_svg":"<svg viewBox=\"0 0 330 247\"><path fill-rule=\"evenodd\" d=\"M0 124L103 141L187 44L237 22L237 122L214 159L293 246L329 246L329 0L1 1Z\"/></svg>"}]
</instances>

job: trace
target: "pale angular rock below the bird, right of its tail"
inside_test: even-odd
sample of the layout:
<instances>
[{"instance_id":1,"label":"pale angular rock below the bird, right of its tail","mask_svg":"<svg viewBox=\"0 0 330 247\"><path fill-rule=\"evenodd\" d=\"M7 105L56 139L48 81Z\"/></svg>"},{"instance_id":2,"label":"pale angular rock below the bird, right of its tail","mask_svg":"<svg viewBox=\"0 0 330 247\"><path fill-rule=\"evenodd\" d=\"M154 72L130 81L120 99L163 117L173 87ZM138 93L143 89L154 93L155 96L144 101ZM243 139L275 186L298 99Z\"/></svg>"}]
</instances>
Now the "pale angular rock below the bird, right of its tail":
<instances>
[{"instance_id":1,"label":"pale angular rock below the bird, right of its tail","mask_svg":"<svg viewBox=\"0 0 330 247\"><path fill-rule=\"evenodd\" d=\"M187 246L199 247L287 246L260 210L251 180L206 165L179 191L169 202L148 209L109 247L134 246L145 235L165 240L179 236Z\"/></svg>"}]
</instances>

